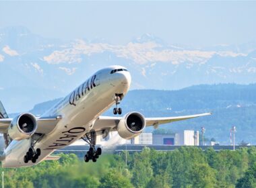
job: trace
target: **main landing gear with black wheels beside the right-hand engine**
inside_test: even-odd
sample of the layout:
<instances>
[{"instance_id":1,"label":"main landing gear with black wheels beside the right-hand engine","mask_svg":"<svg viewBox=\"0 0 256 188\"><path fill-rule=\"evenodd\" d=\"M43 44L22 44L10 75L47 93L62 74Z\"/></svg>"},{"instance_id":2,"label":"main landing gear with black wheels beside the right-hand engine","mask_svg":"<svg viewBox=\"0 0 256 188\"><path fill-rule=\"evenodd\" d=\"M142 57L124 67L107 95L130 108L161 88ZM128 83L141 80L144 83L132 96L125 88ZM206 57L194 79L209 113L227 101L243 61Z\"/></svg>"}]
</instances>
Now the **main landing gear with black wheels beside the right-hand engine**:
<instances>
[{"instance_id":1,"label":"main landing gear with black wheels beside the right-hand engine","mask_svg":"<svg viewBox=\"0 0 256 188\"><path fill-rule=\"evenodd\" d=\"M97 158L101 154L101 148L95 148L96 132L86 133L86 138L82 137L82 139L90 144L90 149L88 150L88 152L86 152L86 155L84 156L84 161L89 162L89 160L92 160L92 162L96 162Z\"/></svg>"}]
</instances>

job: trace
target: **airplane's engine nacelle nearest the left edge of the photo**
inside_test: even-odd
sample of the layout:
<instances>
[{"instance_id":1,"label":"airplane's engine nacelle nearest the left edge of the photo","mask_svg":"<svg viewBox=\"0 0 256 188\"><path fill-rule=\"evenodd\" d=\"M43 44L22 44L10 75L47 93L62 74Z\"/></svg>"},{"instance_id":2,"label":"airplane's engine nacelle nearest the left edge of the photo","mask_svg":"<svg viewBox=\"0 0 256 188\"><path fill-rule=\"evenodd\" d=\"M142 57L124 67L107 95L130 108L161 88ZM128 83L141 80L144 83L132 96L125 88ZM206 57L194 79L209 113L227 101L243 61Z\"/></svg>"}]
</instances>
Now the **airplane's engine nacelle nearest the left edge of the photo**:
<instances>
[{"instance_id":1,"label":"airplane's engine nacelle nearest the left edge of the photo","mask_svg":"<svg viewBox=\"0 0 256 188\"><path fill-rule=\"evenodd\" d=\"M36 129L36 117L31 113L22 113L11 121L8 134L13 140L23 140L30 138Z\"/></svg>"}]
</instances>

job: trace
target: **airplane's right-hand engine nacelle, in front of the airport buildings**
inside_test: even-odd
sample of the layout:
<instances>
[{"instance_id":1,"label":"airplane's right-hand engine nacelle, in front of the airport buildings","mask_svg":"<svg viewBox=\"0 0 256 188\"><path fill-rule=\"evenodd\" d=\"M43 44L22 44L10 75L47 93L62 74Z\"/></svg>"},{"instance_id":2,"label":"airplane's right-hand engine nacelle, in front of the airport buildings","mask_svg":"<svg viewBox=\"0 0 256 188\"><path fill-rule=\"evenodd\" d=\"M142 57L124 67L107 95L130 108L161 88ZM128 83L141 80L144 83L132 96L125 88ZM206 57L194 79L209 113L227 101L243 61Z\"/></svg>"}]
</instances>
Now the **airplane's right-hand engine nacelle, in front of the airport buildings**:
<instances>
[{"instance_id":1,"label":"airplane's right-hand engine nacelle, in front of the airport buildings","mask_svg":"<svg viewBox=\"0 0 256 188\"><path fill-rule=\"evenodd\" d=\"M125 139L131 139L141 134L146 127L146 120L139 112L127 113L117 125L119 136Z\"/></svg>"}]
</instances>

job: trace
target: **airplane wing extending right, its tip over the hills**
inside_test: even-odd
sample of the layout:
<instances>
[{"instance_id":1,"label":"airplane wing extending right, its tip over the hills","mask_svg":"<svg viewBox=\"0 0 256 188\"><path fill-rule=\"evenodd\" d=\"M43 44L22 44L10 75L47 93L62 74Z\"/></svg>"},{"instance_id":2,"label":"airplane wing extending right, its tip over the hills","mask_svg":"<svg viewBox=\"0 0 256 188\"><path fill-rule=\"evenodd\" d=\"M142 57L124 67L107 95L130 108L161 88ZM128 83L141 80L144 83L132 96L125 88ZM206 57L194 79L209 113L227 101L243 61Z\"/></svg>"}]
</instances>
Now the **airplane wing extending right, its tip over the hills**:
<instances>
[{"instance_id":1,"label":"airplane wing extending right, its tip over the hills","mask_svg":"<svg viewBox=\"0 0 256 188\"><path fill-rule=\"evenodd\" d=\"M198 118L205 115L212 115L212 113L200 113L195 115L184 115L177 117L166 117L166 118L145 118L146 126L154 126L154 128L158 128L160 124L168 124L170 122L177 122L181 120L188 120L191 118ZM98 120L96 120L94 124L94 130L96 132L108 130L115 131L117 130L117 125L122 117L109 117L109 116L100 116Z\"/></svg>"}]
</instances>

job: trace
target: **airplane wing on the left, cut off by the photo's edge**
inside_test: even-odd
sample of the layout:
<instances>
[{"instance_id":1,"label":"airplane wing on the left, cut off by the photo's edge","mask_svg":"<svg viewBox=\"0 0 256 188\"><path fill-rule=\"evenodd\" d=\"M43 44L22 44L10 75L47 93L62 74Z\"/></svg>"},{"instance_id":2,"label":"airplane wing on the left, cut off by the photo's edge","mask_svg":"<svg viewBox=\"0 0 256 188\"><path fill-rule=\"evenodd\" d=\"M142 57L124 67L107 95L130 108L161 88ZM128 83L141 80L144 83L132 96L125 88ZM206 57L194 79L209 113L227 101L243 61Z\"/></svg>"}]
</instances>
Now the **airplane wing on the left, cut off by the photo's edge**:
<instances>
[{"instance_id":1,"label":"airplane wing on the left, cut off by the photo's edge","mask_svg":"<svg viewBox=\"0 0 256 188\"><path fill-rule=\"evenodd\" d=\"M7 133L8 127L11 124L12 118L3 118L0 119L0 132ZM61 120L61 116L53 117L53 118L36 118L38 128L36 133L40 134L48 134L51 132L59 120Z\"/></svg>"}]
</instances>

